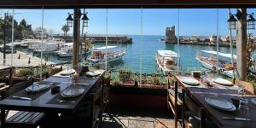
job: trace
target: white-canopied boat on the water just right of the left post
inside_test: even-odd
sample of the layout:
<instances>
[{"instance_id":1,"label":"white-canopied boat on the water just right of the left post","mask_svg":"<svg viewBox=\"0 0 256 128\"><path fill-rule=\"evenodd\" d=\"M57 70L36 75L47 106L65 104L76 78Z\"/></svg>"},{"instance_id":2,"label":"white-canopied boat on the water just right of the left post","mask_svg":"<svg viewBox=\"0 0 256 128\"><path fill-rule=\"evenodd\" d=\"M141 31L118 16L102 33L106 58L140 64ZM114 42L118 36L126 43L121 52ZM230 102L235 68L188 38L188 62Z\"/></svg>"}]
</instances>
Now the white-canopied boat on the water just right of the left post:
<instances>
[{"instance_id":1,"label":"white-canopied boat on the water just right of the left post","mask_svg":"<svg viewBox=\"0 0 256 128\"><path fill-rule=\"evenodd\" d=\"M92 49L88 61L94 65L103 65L106 59L108 62L118 61L123 55L125 55L125 49L117 46L104 46Z\"/></svg>"}]
</instances>

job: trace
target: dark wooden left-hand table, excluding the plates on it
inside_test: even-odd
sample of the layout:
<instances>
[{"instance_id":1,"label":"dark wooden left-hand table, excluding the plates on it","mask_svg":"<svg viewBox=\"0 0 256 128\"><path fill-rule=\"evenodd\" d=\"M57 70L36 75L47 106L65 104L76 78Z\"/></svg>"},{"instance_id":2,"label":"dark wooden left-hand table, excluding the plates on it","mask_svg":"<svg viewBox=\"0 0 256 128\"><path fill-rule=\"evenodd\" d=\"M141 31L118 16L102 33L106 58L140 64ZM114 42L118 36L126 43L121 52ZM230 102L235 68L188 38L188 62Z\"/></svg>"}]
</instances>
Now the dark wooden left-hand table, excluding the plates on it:
<instances>
[{"instance_id":1,"label":"dark wooden left-hand table, excluding the plates on it","mask_svg":"<svg viewBox=\"0 0 256 128\"><path fill-rule=\"evenodd\" d=\"M102 74L96 78L90 78L86 76L75 76L73 85L79 85L84 88L84 93L73 99L75 103L68 102L56 102L58 97L61 97L61 93L52 94L51 90L47 90L41 96L33 99L32 101L20 100L11 98L11 96L0 101L1 108L1 124L4 127L5 122L5 110L20 110L20 111L32 111L43 113L73 113L77 110L79 102L84 98L87 92L95 85L99 80L103 78L104 70L100 70ZM46 82L57 82L61 87L61 90L65 90L70 86L70 79L67 77L52 76L49 79L45 79ZM24 90L20 90L24 91ZM61 91L60 91L61 92ZM17 92L19 93L19 92ZM15 94L17 94L15 93ZM15 96L15 94L13 96Z\"/></svg>"}]
</instances>

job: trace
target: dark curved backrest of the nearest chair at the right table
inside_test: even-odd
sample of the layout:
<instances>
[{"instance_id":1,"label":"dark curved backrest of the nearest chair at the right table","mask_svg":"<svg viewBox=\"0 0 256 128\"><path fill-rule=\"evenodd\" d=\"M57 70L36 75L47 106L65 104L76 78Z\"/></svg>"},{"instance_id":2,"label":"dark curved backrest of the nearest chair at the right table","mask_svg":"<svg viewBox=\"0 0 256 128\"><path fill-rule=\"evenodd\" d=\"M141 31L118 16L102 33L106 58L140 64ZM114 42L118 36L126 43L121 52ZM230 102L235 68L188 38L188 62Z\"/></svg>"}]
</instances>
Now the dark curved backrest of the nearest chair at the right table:
<instances>
[{"instance_id":1,"label":"dark curved backrest of the nearest chair at the right table","mask_svg":"<svg viewBox=\"0 0 256 128\"><path fill-rule=\"evenodd\" d=\"M184 99L190 111L196 116L201 117L201 108L189 96L184 95Z\"/></svg>"}]
</instances>

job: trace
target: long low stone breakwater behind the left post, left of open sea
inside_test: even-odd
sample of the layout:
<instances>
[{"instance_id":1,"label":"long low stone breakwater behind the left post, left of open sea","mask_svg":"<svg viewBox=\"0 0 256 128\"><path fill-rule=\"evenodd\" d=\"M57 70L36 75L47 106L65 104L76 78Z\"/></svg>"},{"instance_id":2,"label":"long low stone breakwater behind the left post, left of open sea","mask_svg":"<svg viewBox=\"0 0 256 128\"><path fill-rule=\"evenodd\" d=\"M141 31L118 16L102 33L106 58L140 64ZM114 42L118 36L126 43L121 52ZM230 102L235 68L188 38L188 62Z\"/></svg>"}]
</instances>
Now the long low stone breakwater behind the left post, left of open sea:
<instances>
[{"instance_id":1,"label":"long low stone breakwater behind the left post, left of open sea","mask_svg":"<svg viewBox=\"0 0 256 128\"><path fill-rule=\"evenodd\" d=\"M66 42L73 42L72 36L54 35L54 38L63 38ZM85 40L91 43L105 43L106 35L86 35ZM84 40L83 38L80 38ZM108 43L132 44L132 38L125 35L108 35Z\"/></svg>"}]
</instances>

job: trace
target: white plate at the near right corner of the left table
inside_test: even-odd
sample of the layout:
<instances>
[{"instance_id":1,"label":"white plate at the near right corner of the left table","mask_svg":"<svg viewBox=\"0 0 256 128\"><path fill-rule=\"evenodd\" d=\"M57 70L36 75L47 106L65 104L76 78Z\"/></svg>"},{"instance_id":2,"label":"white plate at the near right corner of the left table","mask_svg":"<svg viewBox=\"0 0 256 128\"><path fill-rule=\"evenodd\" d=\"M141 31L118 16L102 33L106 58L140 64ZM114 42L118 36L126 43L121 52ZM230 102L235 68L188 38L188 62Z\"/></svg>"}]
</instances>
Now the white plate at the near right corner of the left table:
<instances>
[{"instance_id":1,"label":"white plate at the near right corner of the left table","mask_svg":"<svg viewBox=\"0 0 256 128\"><path fill-rule=\"evenodd\" d=\"M84 93L84 88L79 86L70 86L61 92L61 96L69 98L79 96L82 93Z\"/></svg>"}]
</instances>

